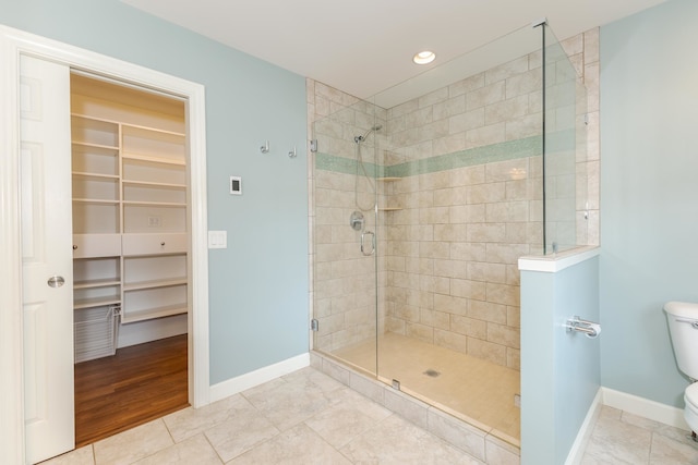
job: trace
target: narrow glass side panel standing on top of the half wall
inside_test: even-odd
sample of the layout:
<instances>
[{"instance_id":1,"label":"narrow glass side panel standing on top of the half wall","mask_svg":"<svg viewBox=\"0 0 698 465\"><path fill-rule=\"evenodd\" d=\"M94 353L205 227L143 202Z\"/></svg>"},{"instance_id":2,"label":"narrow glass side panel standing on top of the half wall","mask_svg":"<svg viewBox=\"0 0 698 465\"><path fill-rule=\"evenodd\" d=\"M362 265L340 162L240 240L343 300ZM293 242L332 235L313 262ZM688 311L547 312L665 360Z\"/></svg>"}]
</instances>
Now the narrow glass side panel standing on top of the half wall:
<instances>
[{"instance_id":1,"label":"narrow glass side panel standing on top of the half wall","mask_svg":"<svg viewBox=\"0 0 698 465\"><path fill-rule=\"evenodd\" d=\"M544 25L544 253L586 244L586 103L569 57Z\"/></svg>"}]
</instances>

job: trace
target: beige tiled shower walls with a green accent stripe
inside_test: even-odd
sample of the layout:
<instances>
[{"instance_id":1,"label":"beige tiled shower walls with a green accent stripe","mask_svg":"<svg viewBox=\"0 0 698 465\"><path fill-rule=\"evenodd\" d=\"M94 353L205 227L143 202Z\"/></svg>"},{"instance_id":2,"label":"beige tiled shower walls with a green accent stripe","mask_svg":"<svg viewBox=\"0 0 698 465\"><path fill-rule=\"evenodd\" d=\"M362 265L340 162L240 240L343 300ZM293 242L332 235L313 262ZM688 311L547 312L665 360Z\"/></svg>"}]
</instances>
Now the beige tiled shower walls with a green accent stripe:
<instances>
[{"instance_id":1,"label":"beige tiled shower walls with a green accent stripe","mask_svg":"<svg viewBox=\"0 0 698 465\"><path fill-rule=\"evenodd\" d=\"M598 244L598 29L563 47L588 87L577 216L589 220L578 221L578 243ZM531 155L540 152L540 75L533 53L389 110L309 79L309 134L322 120L320 150L309 157L315 348L372 338L378 325L381 332L519 367L516 264L540 253L542 241L541 162ZM373 257L357 256L359 233L348 227L356 209L353 136L374 121L383 125L375 135L381 150L364 160L397 178L377 188L380 206L399 208L366 227L383 238L378 321Z\"/></svg>"}]
</instances>

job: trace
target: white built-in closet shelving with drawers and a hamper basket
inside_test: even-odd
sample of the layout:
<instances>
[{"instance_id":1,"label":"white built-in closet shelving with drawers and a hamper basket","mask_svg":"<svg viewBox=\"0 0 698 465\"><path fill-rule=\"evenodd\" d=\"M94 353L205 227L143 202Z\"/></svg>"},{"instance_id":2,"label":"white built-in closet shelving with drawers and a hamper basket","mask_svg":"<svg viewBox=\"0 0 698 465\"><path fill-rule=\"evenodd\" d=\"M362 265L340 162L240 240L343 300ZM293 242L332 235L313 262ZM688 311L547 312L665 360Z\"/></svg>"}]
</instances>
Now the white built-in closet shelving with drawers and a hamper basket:
<instances>
[{"instance_id":1,"label":"white built-in closet shelving with drawers and a hamper basket","mask_svg":"<svg viewBox=\"0 0 698 465\"><path fill-rule=\"evenodd\" d=\"M99 86L111 100L95 97ZM87 97L73 96L71 118L76 362L113 354L119 325L189 311L183 105L177 121L124 105L113 98L113 84L91 82L85 88ZM142 94L137 105L148 98L155 107L169 105ZM96 326L101 320L115 330ZM111 334L111 342L94 334Z\"/></svg>"}]
</instances>

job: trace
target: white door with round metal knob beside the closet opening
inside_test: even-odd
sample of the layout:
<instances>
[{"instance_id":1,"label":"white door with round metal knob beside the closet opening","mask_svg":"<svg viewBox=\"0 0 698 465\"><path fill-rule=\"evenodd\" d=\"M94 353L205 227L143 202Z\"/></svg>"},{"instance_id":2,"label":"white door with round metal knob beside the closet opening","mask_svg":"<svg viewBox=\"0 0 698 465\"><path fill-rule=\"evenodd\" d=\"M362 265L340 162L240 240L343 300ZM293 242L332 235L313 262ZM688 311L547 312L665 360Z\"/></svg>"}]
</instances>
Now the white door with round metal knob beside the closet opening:
<instances>
[{"instance_id":1,"label":"white door with round metal knob beside the closet opening","mask_svg":"<svg viewBox=\"0 0 698 465\"><path fill-rule=\"evenodd\" d=\"M21 60L26 460L75 446L70 70Z\"/></svg>"}]
</instances>

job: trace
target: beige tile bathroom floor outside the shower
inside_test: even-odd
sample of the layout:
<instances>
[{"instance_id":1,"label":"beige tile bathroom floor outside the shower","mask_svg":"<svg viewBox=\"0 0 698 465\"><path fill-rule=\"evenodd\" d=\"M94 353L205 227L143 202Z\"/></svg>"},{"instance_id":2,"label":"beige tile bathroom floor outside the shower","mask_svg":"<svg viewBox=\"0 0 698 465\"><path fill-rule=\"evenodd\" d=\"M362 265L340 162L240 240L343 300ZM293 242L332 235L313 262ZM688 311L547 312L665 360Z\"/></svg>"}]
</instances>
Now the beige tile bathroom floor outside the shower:
<instances>
[{"instance_id":1,"label":"beige tile bathroom floor outside the shower","mask_svg":"<svg viewBox=\"0 0 698 465\"><path fill-rule=\"evenodd\" d=\"M582 464L698 464L686 433L603 407ZM224 463L482 464L314 368L44 464Z\"/></svg>"}]
</instances>

